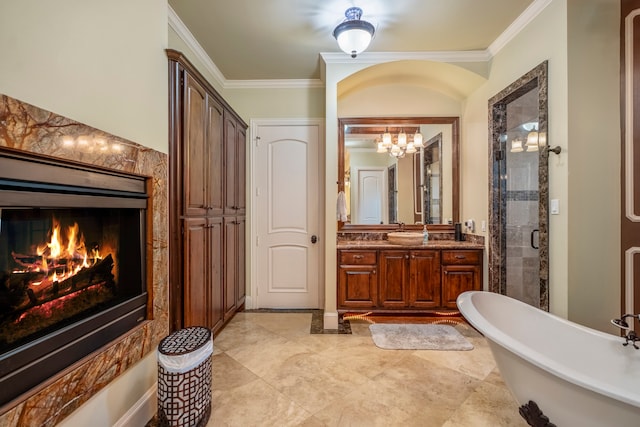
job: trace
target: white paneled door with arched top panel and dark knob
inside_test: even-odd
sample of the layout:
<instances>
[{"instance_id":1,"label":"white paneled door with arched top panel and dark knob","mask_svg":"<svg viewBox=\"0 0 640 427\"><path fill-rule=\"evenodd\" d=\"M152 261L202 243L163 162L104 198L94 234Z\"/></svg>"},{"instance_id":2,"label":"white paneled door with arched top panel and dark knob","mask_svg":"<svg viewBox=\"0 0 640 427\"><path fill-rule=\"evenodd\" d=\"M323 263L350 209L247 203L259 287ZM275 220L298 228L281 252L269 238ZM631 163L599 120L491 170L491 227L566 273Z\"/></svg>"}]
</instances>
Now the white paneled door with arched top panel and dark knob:
<instances>
[{"instance_id":1,"label":"white paneled door with arched top panel and dark knob","mask_svg":"<svg viewBox=\"0 0 640 427\"><path fill-rule=\"evenodd\" d=\"M320 123L256 124L255 308L319 308Z\"/></svg>"}]
</instances>

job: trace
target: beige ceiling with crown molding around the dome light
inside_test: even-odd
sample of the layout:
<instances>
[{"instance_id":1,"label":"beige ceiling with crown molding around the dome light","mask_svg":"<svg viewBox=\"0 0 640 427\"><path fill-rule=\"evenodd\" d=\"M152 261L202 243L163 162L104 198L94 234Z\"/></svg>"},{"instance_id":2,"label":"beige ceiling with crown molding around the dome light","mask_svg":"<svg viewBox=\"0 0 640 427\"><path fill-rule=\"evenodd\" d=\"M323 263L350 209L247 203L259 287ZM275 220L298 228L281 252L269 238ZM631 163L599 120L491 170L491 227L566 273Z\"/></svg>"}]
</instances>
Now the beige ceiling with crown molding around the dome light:
<instances>
[{"instance_id":1,"label":"beige ceiling with crown molding around the dome light","mask_svg":"<svg viewBox=\"0 0 640 427\"><path fill-rule=\"evenodd\" d=\"M483 51L539 0L169 0L226 80L320 79L320 53L351 6L369 52ZM345 61L351 60L344 54Z\"/></svg>"}]
</instances>

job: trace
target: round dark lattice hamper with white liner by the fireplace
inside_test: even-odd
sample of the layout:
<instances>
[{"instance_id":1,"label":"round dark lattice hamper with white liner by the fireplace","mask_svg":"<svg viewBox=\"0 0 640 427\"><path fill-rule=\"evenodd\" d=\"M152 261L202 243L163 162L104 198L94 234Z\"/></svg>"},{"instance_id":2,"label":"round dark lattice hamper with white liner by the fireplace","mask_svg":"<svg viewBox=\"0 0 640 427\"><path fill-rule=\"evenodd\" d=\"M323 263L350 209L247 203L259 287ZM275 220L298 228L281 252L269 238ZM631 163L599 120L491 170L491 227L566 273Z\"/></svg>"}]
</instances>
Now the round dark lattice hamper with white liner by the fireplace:
<instances>
[{"instance_id":1,"label":"round dark lattice hamper with white liner by the fireplace","mask_svg":"<svg viewBox=\"0 0 640 427\"><path fill-rule=\"evenodd\" d=\"M180 329L158 345L158 424L205 426L211 416L213 336L201 326Z\"/></svg>"}]
</instances>

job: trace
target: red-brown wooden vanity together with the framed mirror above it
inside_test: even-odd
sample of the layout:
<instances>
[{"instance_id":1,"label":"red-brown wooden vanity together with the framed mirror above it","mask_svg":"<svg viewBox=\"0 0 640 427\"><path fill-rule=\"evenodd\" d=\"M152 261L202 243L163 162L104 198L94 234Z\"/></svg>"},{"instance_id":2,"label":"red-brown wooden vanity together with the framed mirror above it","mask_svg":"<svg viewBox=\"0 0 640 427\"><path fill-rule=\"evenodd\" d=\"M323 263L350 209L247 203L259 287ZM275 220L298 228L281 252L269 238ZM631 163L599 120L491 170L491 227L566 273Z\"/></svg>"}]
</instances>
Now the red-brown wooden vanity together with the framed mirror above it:
<instances>
[{"instance_id":1,"label":"red-brown wooden vanity together with the framed mirror above it","mask_svg":"<svg viewBox=\"0 0 640 427\"><path fill-rule=\"evenodd\" d=\"M457 312L459 294L482 289L484 239L454 240L458 126L457 117L339 119L338 189L348 214L337 235L340 315L446 315ZM385 134L397 144L400 133L422 143L400 156L383 151ZM426 244L390 241L404 235L399 230L409 236L425 225Z\"/></svg>"}]
</instances>

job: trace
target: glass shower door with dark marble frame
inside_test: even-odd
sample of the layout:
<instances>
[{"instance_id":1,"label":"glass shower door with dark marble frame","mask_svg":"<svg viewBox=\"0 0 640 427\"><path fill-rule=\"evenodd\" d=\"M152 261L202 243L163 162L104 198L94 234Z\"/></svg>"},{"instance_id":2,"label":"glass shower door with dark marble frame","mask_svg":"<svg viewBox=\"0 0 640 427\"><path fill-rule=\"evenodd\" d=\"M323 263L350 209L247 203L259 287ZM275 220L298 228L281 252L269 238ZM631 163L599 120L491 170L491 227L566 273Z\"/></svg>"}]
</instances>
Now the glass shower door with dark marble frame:
<instances>
[{"instance_id":1,"label":"glass shower door with dark marble frame","mask_svg":"<svg viewBox=\"0 0 640 427\"><path fill-rule=\"evenodd\" d=\"M547 63L489 101L489 287L548 310Z\"/></svg>"}]
</instances>

